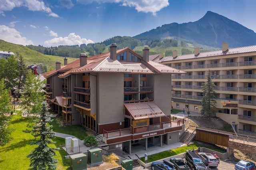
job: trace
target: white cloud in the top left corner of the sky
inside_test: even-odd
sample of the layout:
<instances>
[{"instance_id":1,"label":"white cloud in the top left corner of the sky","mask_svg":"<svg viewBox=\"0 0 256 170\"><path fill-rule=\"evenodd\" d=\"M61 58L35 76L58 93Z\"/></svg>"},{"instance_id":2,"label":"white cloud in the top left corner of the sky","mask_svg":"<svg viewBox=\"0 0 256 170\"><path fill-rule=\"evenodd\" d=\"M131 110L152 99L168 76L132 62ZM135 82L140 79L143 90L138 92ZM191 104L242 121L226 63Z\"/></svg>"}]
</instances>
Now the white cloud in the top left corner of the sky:
<instances>
[{"instance_id":1,"label":"white cloud in the top left corner of the sky","mask_svg":"<svg viewBox=\"0 0 256 170\"><path fill-rule=\"evenodd\" d=\"M24 6L30 11L43 11L48 13L49 16L59 17L57 14L54 14L42 0L1 0L0 14L5 16L4 11L11 11L13 8Z\"/></svg>"}]
</instances>

